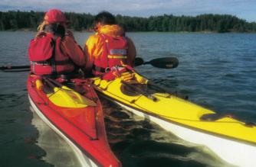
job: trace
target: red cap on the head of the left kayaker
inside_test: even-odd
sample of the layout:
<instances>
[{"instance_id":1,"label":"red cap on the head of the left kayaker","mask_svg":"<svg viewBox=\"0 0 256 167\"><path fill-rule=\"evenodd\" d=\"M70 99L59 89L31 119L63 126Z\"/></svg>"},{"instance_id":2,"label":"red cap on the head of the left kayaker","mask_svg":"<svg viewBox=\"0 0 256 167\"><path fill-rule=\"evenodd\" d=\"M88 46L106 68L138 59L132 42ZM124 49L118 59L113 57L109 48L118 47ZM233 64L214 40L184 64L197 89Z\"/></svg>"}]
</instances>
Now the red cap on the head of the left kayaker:
<instances>
[{"instance_id":1,"label":"red cap on the head of the left kayaker","mask_svg":"<svg viewBox=\"0 0 256 167\"><path fill-rule=\"evenodd\" d=\"M64 13L58 9L51 9L44 15L44 21L48 23L67 22Z\"/></svg>"}]
</instances>

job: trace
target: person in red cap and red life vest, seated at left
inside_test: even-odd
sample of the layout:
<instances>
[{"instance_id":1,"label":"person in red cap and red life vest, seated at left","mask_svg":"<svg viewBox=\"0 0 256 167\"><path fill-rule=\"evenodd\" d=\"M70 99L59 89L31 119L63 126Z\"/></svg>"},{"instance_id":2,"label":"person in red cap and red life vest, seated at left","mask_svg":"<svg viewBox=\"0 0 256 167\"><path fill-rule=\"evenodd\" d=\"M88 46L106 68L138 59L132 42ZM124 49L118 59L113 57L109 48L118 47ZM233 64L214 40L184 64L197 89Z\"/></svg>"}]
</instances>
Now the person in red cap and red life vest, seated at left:
<instances>
[{"instance_id":1,"label":"person in red cap and red life vest, seated at left","mask_svg":"<svg viewBox=\"0 0 256 167\"><path fill-rule=\"evenodd\" d=\"M84 52L67 30L67 19L58 9L45 13L28 55L31 72L36 75L72 75L77 67L85 66Z\"/></svg>"}]
</instances>

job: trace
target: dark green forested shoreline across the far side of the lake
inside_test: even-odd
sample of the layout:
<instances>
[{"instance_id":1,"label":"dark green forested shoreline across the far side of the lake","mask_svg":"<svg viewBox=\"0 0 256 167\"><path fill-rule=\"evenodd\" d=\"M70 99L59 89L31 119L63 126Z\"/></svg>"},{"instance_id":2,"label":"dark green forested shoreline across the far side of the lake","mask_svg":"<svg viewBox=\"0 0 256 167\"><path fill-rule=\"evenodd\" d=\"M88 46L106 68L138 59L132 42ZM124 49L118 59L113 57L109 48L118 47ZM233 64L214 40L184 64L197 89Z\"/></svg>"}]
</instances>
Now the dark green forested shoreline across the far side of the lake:
<instances>
[{"instance_id":1,"label":"dark green forested shoreline across the far side of the lake","mask_svg":"<svg viewBox=\"0 0 256 167\"><path fill-rule=\"evenodd\" d=\"M65 13L75 31L91 31L93 14ZM44 12L0 11L0 31L36 31ZM159 32L256 32L256 23L248 22L230 14L200 14L198 16L175 16L164 14L149 18L130 17L117 14L118 23L126 31Z\"/></svg>"}]
</instances>

